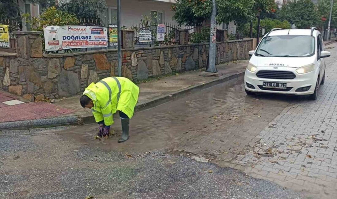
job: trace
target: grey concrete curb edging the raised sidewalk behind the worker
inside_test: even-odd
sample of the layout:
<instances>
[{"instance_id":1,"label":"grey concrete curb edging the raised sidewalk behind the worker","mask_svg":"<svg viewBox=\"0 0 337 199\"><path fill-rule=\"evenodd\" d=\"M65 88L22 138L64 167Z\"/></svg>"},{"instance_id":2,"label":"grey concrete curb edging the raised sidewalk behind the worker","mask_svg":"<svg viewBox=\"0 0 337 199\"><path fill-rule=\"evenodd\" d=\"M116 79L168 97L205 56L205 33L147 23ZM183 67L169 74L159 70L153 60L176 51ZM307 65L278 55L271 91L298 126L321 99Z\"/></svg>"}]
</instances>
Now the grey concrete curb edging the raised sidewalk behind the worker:
<instances>
[{"instance_id":1,"label":"grey concrete curb edging the raised sidewalk behind the worker","mask_svg":"<svg viewBox=\"0 0 337 199\"><path fill-rule=\"evenodd\" d=\"M146 110L160 104L164 104L175 99L185 97L192 93L199 92L201 90L210 88L212 86L228 82L226 86L232 86L244 76L245 70L240 70L232 75L222 75L217 79L213 79L204 84L194 85L171 94L162 95L152 100L137 104L135 107L135 112ZM118 117L118 114L115 114ZM29 128L42 128L42 127L55 127L55 126L65 126L65 125L83 125L95 123L95 119L92 114L79 115L79 116L65 116L59 118L46 118L37 120L24 120L24 121L14 121L14 122L2 122L0 123L1 130L16 130L16 129L29 129Z\"/></svg>"}]
</instances>

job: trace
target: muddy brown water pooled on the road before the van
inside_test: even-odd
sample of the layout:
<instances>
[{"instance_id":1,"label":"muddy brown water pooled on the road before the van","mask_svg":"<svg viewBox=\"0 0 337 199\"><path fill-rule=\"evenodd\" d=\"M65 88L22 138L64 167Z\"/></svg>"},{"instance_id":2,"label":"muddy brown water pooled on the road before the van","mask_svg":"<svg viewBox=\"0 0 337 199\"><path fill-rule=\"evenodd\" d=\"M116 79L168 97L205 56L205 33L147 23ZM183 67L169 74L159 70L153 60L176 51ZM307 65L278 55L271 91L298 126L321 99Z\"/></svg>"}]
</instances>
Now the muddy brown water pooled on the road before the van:
<instances>
[{"instance_id":1,"label":"muddy brown water pooled on the road before the van","mask_svg":"<svg viewBox=\"0 0 337 199\"><path fill-rule=\"evenodd\" d=\"M137 112L130 122L130 139L117 143L120 121L112 129L115 136L94 140L97 125L64 131L69 139L123 152L175 149L214 160L230 161L254 143L255 136L297 97L247 96L243 84L226 88L220 84L200 93Z\"/></svg>"}]
</instances>

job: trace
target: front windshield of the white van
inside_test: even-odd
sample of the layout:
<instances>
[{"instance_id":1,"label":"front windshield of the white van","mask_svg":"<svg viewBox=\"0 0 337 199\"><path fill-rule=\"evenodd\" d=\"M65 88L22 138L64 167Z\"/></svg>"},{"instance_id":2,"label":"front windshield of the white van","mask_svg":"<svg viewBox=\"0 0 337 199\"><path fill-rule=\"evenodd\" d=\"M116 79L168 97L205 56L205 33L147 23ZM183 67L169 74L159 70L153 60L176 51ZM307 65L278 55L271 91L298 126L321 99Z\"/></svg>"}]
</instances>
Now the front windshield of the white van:
<instances>
[{"instance_id":1,"label":"front windshield of the white van","mask_svg":"<svg viewBox=\"0 0 337 199\"><path fill-rule=\"evenodd\" d=\"M314 37L305 35L279 35L263 38L255 51L255 56L310 57L314 53Z\"/></svg>"}]
</instances>

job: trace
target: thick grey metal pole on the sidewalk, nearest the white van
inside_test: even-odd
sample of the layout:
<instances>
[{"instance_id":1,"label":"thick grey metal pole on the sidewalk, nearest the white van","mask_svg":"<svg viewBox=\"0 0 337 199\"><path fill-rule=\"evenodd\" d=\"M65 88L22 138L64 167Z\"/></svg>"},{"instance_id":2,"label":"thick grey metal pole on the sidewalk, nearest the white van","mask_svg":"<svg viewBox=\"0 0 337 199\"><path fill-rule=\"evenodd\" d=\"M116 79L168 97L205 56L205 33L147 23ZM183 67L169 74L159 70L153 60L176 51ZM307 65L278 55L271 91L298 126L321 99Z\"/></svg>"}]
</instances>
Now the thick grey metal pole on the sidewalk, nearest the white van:
<instances>
[{"instance_id":1,"label":"thick grey metal pole on the sidewalk, nearest the white van","mask_svg":"<svg viewBox=\"0 0 337 199\"><path fill-rule=\"evenodd\" d=\"M211 33L210 33L210 49L209 49L209 67L206 72L217 72L215 68L215 57L216 57L216 2L212 0L213 9L211 17Z\"/></svg>"}]
</instances>

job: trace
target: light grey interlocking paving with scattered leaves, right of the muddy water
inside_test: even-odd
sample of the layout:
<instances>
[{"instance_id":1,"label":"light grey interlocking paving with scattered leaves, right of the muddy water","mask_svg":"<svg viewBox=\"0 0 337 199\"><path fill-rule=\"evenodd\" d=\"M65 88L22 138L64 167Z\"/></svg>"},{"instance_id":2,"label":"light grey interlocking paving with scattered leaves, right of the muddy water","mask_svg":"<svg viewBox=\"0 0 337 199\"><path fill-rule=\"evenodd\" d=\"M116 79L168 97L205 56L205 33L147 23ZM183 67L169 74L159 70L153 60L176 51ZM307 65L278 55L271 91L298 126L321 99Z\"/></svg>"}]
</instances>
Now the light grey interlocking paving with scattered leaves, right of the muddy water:
<instances>
[{"instance_id":1,"label":"light grey interlocking paving with scattered leaves, right of the muddy water","mask_svg":"<svg viewBox=\"0 0 337 199\"><path fill-rule=\"evenodd\" d=\"M231 166L319 198L336 198L337 43L326 48L332 56L317 101L290 103Z\"/></svg>"}]
</instances>

